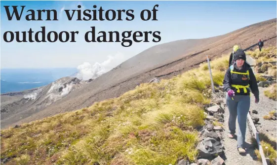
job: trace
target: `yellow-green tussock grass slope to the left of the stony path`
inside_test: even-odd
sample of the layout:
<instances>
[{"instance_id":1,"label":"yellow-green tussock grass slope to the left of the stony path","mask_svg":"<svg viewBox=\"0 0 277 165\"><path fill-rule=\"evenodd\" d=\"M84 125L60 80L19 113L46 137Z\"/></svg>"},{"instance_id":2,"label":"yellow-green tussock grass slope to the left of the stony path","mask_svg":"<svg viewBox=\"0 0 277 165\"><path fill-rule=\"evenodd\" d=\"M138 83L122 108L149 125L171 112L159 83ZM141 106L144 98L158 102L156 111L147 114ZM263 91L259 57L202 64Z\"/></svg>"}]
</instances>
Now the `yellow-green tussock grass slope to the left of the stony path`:
<instances>
[{"instance_id":1,"label":"yellow-green tussock grass slope to the left of the stony path","mask_svg":"<svg viewBox=\"0 0 277 165\"><path fill-rule=\"evenodd\" d=\"M223 85L228 55L211 62ZM210 102L207 64L160 83L141 84L119 98L1 130L1 159L65 165L174 165L197 157L196 128Z\"/></svg>"}]
</instances>

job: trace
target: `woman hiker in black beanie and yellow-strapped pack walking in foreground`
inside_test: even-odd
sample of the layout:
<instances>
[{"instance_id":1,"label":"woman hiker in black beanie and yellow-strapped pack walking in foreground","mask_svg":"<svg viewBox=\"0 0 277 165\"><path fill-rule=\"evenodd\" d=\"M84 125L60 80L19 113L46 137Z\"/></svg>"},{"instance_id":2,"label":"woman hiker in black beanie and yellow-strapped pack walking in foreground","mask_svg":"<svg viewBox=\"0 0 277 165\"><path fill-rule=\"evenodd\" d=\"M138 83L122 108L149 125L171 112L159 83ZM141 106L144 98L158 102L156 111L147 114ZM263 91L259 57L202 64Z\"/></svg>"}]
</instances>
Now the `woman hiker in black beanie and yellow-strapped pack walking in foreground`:
<instances>
[{"instance_id":1,"label":"woman hiker in black beanie and yellow-strapped pack walking in foreground","mask_svg":"<svg viewBox=\"0 0 277 165\"><path fill-rule=\"evenodd\" d=\"M236 133L236 119L238 121L237 150L245 153L245 132L247 113L250 108L250 92L254 94L255 103L259 102L259 89L251 66L246 61L246 55L241 49L237 50L234 63L230 66L223 80L224 90L227 92L226 104L229 116L229 137ZM251 91L250 91L251 89Z\"/></svg>"}]
</instances>

